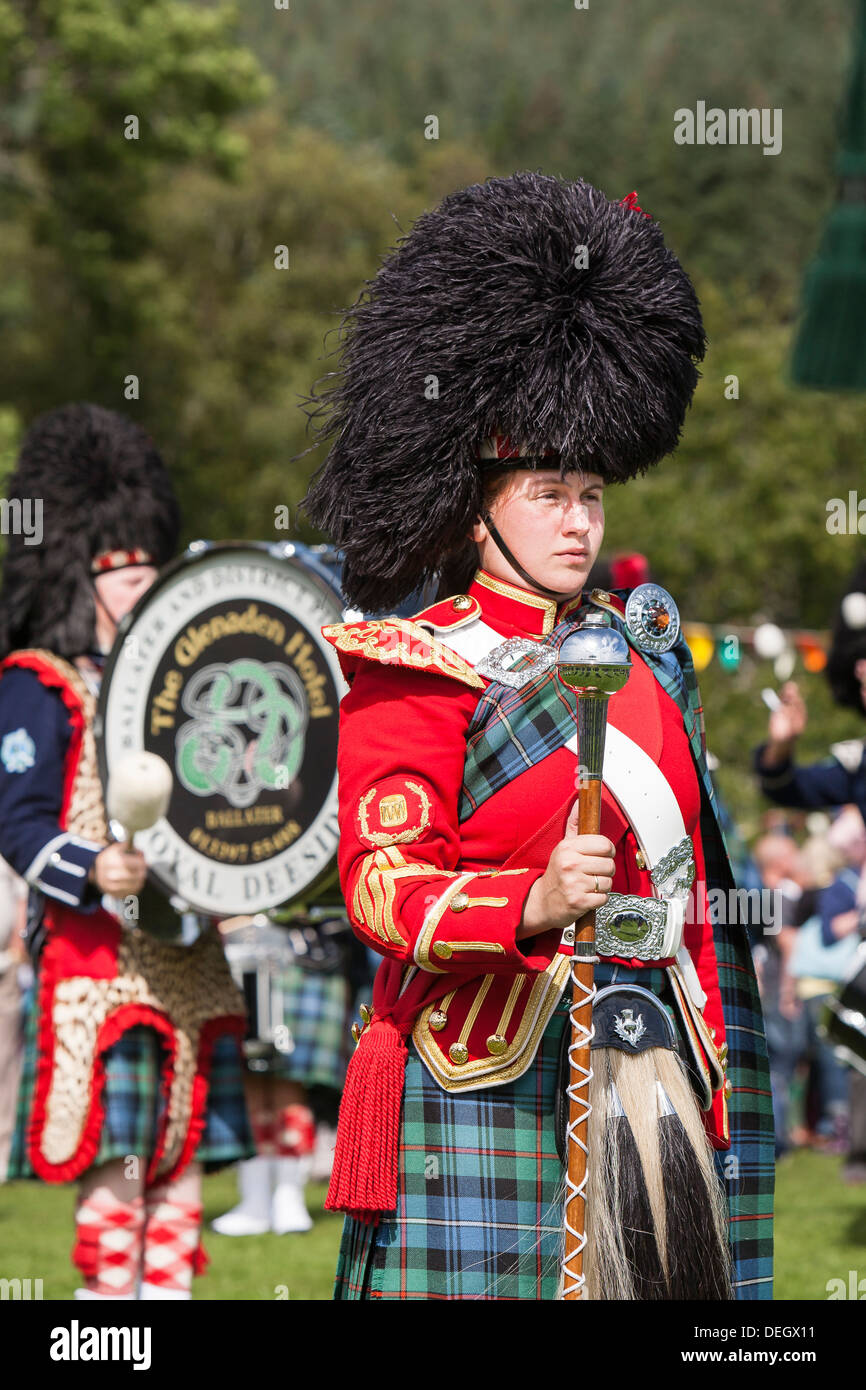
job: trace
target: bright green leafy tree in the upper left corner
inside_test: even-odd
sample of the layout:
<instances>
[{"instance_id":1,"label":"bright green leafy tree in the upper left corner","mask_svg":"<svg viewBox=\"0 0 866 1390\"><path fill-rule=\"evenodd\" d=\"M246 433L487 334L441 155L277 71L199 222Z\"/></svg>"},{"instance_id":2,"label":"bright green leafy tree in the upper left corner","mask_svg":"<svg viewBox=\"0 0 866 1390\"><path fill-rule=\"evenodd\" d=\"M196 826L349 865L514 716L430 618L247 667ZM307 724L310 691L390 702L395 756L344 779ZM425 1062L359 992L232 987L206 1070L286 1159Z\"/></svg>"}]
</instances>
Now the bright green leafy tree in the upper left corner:
<instances>
[{"instance_id":1,"label":"bright green leafy tree in the upper left corner","mask_svg":"<svg viewBox=\"0 0 866 1390\"><path fill-rule=\"evenodd\" d=\"M0 311L4 339L25 339L7 386L26 413L57 398L58 357L68 396L120 392L133 370L145 200L178 164L235 171L229 117L268 90L235 26L231 8L179 0L0 0L3 236L24 275ZM64 302L46 352L28 328Z\"/></svg>"}]
</instances>

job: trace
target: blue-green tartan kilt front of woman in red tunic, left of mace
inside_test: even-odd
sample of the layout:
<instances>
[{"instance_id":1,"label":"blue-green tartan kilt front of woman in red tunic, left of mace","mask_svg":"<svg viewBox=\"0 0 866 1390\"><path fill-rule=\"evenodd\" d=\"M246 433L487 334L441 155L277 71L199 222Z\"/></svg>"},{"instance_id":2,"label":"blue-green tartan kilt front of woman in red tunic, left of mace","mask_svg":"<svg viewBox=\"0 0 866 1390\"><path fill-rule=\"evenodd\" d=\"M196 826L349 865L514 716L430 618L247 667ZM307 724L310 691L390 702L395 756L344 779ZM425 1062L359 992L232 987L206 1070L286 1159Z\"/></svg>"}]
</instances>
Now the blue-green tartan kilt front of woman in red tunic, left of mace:
<instances>
[{"instance_id":1,"label":"blue-green tartan kilt front of woman in red tunic, left of mace","mask_svg":"<svg viewBox=\"0 0 866 1390\"><path fill-rule=\"evenodd\" d=\"M396 1216L348 1218L335 1297L555 1298L562 1165L550 1020L534 1065L507 1086L449 1094L409 1045Z\"/></svg>"}]
</instances>

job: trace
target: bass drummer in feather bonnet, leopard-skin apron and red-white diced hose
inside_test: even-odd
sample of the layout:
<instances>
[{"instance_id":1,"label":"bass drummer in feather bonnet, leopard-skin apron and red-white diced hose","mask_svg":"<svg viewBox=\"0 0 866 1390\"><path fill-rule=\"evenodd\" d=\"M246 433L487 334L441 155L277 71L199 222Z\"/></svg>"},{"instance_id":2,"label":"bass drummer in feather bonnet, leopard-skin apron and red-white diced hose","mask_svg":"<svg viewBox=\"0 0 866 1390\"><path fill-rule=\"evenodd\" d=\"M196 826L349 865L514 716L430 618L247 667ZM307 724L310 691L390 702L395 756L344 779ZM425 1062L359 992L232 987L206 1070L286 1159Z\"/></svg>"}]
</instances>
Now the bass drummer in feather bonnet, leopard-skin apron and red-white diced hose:
<instances>
[{"instance_id":1,"label":"bass drummer in feather bonnet, leopard-skin apron and red-white diced hose","mask_svg":"<svg viewBox=\"0 0 866 1390\"><path fill-rule=\"evenodd\" d=\"M108 652L178 505L149 435L89 403L32 423L7 492L44 507L42 543L8 535L0 592L0 853L29 888L36 967L8 1177L79 1180L75 1298L188 1301L203 1169L252 1148L243 997L215 931L179 951L143 855L111 841L96 742Z\"/></svg>"}]
</instances>

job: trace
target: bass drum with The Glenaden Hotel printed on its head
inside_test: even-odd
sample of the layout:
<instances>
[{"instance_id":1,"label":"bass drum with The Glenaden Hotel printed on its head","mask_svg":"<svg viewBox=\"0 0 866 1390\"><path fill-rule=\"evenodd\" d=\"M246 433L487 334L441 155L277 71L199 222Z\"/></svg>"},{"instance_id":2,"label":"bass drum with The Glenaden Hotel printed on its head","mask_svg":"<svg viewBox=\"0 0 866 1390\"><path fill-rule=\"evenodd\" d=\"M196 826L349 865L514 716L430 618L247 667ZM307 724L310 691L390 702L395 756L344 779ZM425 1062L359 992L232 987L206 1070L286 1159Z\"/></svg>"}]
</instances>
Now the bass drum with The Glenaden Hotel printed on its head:
<instances>
[{"instance_id":1,"label":"bass drum with The Glenaden Hotel printed on its head","mask_svg":"<svg viewBox=\"0 0 866 1390\"><path fill-rule=\"evenodd\" d=\"M106 787L142 749L171 767L168 810L135 842L177 909L224 919L342 902L346 687L320 628L360 616L328 546L196 541L124 619L100 692L100 774Z\"/></svg>"}]
</instances>

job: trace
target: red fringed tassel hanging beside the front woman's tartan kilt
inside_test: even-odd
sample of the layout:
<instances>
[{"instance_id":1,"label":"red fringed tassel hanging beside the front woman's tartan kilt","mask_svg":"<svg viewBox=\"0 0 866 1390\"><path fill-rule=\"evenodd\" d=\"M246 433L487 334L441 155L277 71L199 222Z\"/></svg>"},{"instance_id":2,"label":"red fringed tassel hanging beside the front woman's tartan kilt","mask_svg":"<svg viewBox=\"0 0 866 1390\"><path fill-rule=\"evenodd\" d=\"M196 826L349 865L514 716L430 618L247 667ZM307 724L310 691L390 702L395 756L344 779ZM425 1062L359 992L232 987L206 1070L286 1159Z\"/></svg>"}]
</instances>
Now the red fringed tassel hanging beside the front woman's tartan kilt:
<instances>
[{"instance_id":1,"label":"red fringed tassel hanging beside the front woman's tartan kilt","mask_svg":"<svg viewBox=\"0 0 866 1390\"><path fill-rule=\"evenodd\" d=\"M361 1033L339 1106L328 1211L363 1220L396 1209L406 1056L406 1042L389 1019L374 1019Z\"/></svg>"}]
</instances>

